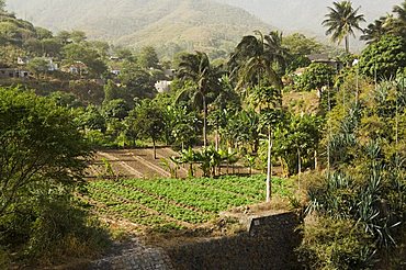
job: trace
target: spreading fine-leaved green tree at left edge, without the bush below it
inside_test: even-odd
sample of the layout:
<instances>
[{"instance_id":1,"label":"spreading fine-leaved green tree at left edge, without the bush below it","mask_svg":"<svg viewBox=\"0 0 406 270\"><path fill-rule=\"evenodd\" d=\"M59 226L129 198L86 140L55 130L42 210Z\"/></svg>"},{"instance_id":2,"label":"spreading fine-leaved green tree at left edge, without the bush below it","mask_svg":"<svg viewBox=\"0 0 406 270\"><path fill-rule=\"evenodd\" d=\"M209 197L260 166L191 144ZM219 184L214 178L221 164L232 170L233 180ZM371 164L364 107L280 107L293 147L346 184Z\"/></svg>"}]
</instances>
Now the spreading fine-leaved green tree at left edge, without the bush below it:
<instances>
[{"instance_id":1,"label":"spreading fine-leaved green tree at left edge, without the bush below it","mask_svg":"<svg viewBox=\"0 0 406 270\"><path fill-rule=\"evenodd\" d=\"M13 204L24 203L26 188L80 180L88 151L70 114L53 102L15 89L2 89L0 102L4 215L16 210Z\"/></svg>"}]
</instances>

